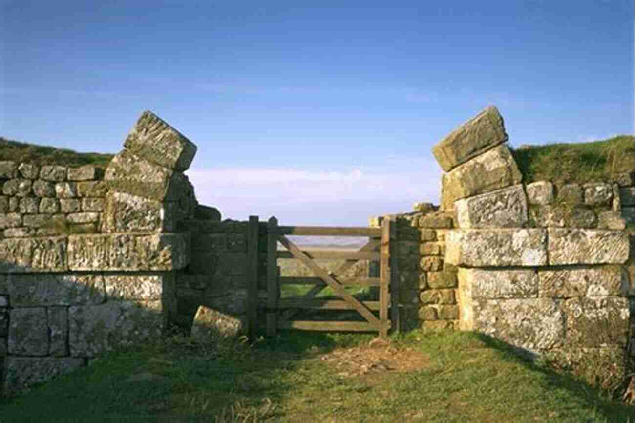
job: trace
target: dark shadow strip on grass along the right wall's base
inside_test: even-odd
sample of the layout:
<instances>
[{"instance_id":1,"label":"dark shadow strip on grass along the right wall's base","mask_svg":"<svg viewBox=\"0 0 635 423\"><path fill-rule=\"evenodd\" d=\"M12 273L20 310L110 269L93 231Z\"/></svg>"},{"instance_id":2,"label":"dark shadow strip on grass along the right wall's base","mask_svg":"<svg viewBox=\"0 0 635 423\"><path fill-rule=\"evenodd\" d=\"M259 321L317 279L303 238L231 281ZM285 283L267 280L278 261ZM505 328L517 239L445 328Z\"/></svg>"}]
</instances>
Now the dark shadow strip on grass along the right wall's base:
<instances>
[{"instance_id":1,"label":"dark shadow strip on grass along the right wall's base","mask_svg":"<svg viewBox=\"0 0 635 423\"><path fill-rule=\"evenodd\" d=\"M500 353L500 359L513 363L521 363L531 372L537 372L544 378L547 389L564 389L580 398L584 403L593 405L597 412L606 417L608 422L627 422L632 418L633 408L610 398L610 394L591 386L588 382L575 377L571 373L556 371L548 363L541 361L530 352L512 346L507 342L495 339L483 333L473 335L485 346Z\"/></svg>"}]
</instances>

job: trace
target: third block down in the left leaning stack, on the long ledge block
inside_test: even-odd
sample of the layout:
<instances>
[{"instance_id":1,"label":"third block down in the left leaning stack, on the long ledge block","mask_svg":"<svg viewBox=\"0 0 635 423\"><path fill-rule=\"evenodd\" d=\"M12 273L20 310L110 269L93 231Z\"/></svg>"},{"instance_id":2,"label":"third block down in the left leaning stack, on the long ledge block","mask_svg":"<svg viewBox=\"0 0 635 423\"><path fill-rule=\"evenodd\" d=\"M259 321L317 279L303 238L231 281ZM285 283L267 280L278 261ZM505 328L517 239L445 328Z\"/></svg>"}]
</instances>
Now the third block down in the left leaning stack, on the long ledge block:
<instances>
[{"instance_id":1,"label":"third block down in the left leaning stack, on the long ledge block","mask_svg":"<svg viewBox=\"0 0 635 423\"><path fill-rule=\"evenodd\" d=\"M161 201L125 192L106 195L104 232L170 232L175 222Z\"/></svg>"}]
</instances>

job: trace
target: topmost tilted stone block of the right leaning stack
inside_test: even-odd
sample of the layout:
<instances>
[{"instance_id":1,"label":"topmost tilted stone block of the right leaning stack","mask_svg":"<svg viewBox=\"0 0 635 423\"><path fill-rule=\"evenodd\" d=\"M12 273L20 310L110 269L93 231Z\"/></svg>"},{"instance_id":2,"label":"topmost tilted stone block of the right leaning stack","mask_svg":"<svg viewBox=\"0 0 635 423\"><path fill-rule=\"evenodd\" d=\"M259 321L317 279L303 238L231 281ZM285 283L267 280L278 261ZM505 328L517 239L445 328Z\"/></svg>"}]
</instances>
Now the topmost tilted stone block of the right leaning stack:
<instances>
[{"instance_id":1,"label":"topmost tilted stone block of the right leaning stack","mask_svg":"<svg viewBox=\"0 0 635 423\"><path fill-rule=\"evenodd\" d=\"M488 107L432 147L432 154L439 166L449 171L508 139L498 109Z\"/></svg>"}]
</instances>

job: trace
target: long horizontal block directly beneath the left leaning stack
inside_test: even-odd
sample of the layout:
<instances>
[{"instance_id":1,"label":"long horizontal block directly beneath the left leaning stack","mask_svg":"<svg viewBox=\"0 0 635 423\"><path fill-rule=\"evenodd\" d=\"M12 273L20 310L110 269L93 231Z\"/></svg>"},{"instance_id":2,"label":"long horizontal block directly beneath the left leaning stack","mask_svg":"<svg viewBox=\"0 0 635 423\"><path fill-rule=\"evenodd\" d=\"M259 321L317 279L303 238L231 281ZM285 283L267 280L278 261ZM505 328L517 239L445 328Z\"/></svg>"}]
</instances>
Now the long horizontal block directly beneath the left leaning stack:
<instances>
[{"instance_id":1,"label":"long horizontal block directly beneath the left leaning stack","mask_svg":"<svg viewBox=\"0 0 635 423\"><path fill-rule=\"evenodd\" d=\"M74 271L167 271L190 260L189 234L69 236L69 269Z\"/></svg>"}]
</instances>

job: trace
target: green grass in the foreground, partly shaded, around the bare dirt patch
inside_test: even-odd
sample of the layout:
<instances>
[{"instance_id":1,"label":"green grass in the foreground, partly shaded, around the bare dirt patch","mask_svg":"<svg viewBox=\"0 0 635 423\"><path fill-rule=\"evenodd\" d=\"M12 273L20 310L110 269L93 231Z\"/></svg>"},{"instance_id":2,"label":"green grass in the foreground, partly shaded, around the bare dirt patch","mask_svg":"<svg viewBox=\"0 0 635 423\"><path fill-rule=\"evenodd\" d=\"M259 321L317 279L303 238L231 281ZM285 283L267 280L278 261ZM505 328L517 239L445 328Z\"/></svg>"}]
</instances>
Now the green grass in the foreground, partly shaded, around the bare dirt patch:
<instances>
[{"instance_id":1,"label":"green grass in the foreground, partly shaded, around the bare dirt patch","mask_svg":"<svg viewBox=\"0 0 635 423\"><path fill-rule=\"evenodd\" d=\"M393 345L423 365L340 377L321 356L369 335L286 333L248 346L175 336L0 402L25 422L627 422L632 407L474 333L412 332ZM385 348L385 347L384 347ZM149 372L158 379L126 382ZM233 417L232 417L233 413Z\"/></svg>"}]
</instances>

